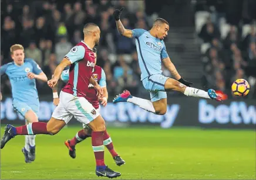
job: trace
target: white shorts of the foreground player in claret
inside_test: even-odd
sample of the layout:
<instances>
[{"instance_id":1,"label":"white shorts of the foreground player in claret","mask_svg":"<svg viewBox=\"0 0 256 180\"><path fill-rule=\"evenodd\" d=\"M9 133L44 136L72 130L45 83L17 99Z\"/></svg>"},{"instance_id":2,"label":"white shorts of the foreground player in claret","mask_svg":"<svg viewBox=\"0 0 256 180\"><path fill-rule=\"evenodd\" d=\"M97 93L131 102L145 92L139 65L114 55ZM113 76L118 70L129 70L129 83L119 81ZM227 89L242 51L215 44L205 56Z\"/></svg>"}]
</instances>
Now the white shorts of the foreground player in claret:
<instances>
[{"instance_id":1,"label":"white shorts of the foreground player in claret","mask_svg":"<svg viewBox=\"0 0 256 180\"><path fill-rule=\"evenodd\" d=\"M52 117L68 124L73 116L79 122L88 124L99 116L99 112L85 98L60 91L59 105L53 111Z\"/></svg>"}]
</instances>

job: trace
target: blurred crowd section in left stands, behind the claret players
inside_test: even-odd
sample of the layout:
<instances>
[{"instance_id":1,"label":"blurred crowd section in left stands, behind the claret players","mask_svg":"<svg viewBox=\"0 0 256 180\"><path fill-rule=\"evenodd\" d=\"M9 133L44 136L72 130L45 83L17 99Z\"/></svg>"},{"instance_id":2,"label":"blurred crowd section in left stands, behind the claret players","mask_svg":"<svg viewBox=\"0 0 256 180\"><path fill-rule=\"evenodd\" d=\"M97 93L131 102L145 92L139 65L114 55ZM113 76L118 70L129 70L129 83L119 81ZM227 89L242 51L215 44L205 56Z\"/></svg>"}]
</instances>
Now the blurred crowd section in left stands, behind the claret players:
<instances>
[{"instance_id":1,"label":"blurred crowd section in left stands, behind the claret players","mask_svg":"<svg viewBox=\"0 0 256 180\"><path fill-rule=\"evenodd\" d=\"M8 2L8 1L7 1ZM48 76L75 44L83 39L83 26L93 22L101 29L97 65L106 72L109 94L129 89L137 94L140 70L133 39L120 36L112 17L114 9L125 8L122 22L128 29L148 29L151 19L144 13L144 1L21 1L1 6L1 65L11 62L9 47L22 44L25 57L33 58ZM3 8L4 7L4 8ZM49 94L48 86L38 83L39 94ZM7 77L1 91L11 93Z\"/></svg>"}]
</instances>

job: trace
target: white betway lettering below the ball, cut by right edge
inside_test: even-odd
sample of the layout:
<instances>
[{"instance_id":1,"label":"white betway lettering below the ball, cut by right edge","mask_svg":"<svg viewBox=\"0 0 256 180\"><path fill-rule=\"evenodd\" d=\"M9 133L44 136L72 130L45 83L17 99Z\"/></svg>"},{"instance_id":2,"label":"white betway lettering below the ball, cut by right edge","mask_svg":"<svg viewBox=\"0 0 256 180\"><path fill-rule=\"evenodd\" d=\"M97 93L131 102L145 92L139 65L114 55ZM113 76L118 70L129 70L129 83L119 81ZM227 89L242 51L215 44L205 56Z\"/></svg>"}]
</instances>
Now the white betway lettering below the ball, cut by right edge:
<instances>
[{"instance_id":1,"label":"white betway lettering below the ball, cut by right edge","mask_svg":"<svg viewBox=\"0 0 256 180\"><path fill-rule=\"evenodd\" d=\"M199 122L210 124L216 121L220 124L256 124L255 106L245 102L231 102L230 105L207 104L206 100L199 101Z\"/></svg>"}]
</instances>

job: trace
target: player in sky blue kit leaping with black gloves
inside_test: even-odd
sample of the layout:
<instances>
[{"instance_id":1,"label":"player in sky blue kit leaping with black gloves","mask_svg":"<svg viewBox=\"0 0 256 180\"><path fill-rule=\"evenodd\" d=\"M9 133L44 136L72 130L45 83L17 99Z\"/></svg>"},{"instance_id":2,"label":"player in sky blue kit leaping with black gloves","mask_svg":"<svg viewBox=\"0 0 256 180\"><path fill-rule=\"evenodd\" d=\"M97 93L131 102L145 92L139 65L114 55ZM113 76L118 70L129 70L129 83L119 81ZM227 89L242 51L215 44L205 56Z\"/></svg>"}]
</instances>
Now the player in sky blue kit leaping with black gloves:
<instances>
[{"instance_id":1,"label":"player in sky blue kit leaping with black gloves","mask_svg":"<svg viewBox=\"0 0 256 180\"><path fill-rule=\"evenodd\" d=\"M125 29L120 21L120 15L124 8L116 9L113 12L116 20L117 30L122 36L136 39L136 48L139 58L139 66L142 71L141 81L144 88L150 92L151 101L134 97L129 91L124 91L122 94L114 98L113 103L116 102L131 102L140 106L149 112L157 115L164 115L167 110L167 91L179 91L186 96L195 96L198 98L215 99L221 101L213 89L208 92L191 88L191 82L181 78L178 74L174 64L171 62L166 51L164 38L169 31L169 23L157 18L154 21L153 27L150 30L144 29ZM175 78L164 77L161 71L161 64L171 72Z\"/></svg>"}]
</instances>

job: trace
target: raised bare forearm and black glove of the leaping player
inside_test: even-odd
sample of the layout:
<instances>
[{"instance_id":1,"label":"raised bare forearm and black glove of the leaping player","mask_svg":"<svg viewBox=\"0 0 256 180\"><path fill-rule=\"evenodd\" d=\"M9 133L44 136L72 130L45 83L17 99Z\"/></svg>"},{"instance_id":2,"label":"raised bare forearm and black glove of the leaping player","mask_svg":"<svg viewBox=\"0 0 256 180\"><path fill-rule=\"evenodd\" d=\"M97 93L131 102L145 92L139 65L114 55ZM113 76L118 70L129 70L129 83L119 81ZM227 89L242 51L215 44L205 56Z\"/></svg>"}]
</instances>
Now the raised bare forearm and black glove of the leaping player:
<instances>
[{"instance_id":1,"label":"raised bare forearm and black glove of the leaping player","mask_svg":"<svg viewBox=\"0 0 256 180\"><path fill-rule=\"evenodd\" d=\"M122 34L123 36L125 37L129 37L129 38L132 38L133 37L133 33L132 33L132 30L130 29L125 29L124 26L123 26L123 23L121 22L120 20L120 15L122 13L124 8L121 8L120 10L119 9L116 9L114 10L113 12L113 16L114 16L114 19L116 19L116 27L117 27L117 30L120 34Z\"/></svg>"}]
</instances>

